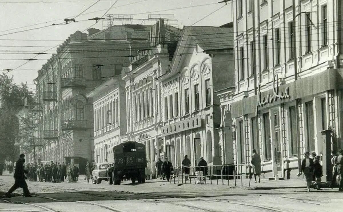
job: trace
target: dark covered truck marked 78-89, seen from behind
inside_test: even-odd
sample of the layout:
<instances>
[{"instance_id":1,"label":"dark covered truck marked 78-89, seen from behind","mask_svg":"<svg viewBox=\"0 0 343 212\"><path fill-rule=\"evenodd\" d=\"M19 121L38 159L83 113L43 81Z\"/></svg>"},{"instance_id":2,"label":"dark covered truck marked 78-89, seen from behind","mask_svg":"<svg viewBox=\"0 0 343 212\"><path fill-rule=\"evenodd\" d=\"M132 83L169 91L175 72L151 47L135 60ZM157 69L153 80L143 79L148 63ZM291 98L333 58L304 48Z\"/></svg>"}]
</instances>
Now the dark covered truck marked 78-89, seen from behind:
<instances>
[{"instance_id":1,"label":"dark covered truck marked 78-89, seen from behind","mask_svg":"<svg viewBox=\"0 0 343 212\"><path fill-rule=\"evenodd\" d=\"M107 168L109 184L120 185L126 178L135 183L145 182L146 148L135 141L123 142L113 147L114 163Z\"/></svg>"}]
</instances>

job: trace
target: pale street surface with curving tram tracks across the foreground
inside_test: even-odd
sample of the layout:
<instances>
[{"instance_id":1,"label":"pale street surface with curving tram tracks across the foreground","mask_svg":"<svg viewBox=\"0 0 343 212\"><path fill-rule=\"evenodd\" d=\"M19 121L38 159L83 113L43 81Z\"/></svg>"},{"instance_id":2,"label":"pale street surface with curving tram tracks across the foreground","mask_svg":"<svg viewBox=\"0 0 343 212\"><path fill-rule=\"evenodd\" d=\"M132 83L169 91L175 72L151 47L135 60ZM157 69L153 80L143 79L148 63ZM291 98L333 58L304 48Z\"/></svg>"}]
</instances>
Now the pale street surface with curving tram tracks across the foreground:
<instances>
[{"instance_id":1,"label":"pale street surface with curving tram tracks across the foreground","mask_svg":"<svg viewBox=\"0 0 343 212\"><path fill-rule=\"evenodd\" d=\"M12 176L0 176L7 190ZM343 193L333 189L304 192L304 188L254 189L224 185L177 185L161 180L121 186L77 183L28 182L34 197L0 199L0 211L341 211Z\"/></svg>"}]
</instances>

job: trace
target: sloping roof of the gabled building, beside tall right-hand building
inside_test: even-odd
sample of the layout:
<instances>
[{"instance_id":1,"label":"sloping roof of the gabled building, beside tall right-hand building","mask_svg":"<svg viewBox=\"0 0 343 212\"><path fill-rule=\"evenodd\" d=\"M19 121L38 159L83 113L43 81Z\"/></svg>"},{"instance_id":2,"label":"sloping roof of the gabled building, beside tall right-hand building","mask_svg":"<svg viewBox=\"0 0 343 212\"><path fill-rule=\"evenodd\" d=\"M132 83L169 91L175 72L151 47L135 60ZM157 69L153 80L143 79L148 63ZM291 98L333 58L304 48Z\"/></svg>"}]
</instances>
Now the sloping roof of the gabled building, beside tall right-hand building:
<instances>
[{"instance_id":1,"label":"sloping roof of the gabled building, beside tall right-hand building","mask_svg":"<svg viewBox=\"0 0 343 212\"><path fill-rule=\"evenodd\" d=\"M185 26L190 36L204 50L233 49L233 28L216 26Z\"/></svg>"}]
</instances>

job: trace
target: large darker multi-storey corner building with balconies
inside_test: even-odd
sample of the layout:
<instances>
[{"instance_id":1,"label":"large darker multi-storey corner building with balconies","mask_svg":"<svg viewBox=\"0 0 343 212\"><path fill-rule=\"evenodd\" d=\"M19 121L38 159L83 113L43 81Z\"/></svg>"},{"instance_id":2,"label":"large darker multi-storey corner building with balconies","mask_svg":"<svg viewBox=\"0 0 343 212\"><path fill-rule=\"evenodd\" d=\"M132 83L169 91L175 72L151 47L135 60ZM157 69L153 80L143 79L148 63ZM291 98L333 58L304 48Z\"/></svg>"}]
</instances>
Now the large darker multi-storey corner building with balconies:
<instances>
[{"instance_id":1,"label":"large darker multi-storey corner building with balconies","mask_svg":"<svg viewBox=\"0 0 343 212\"><path fill-rule=\"evenodd\" d=\"M77 31L38 71L35 107L40 110L38 135L45 141L37 151L41 160L82 168L93 160L93 103L85 94L121 73L122 64L128 61L123 49L128 46L125 39L90 40Z\"/></svg>"}]
</instances>

